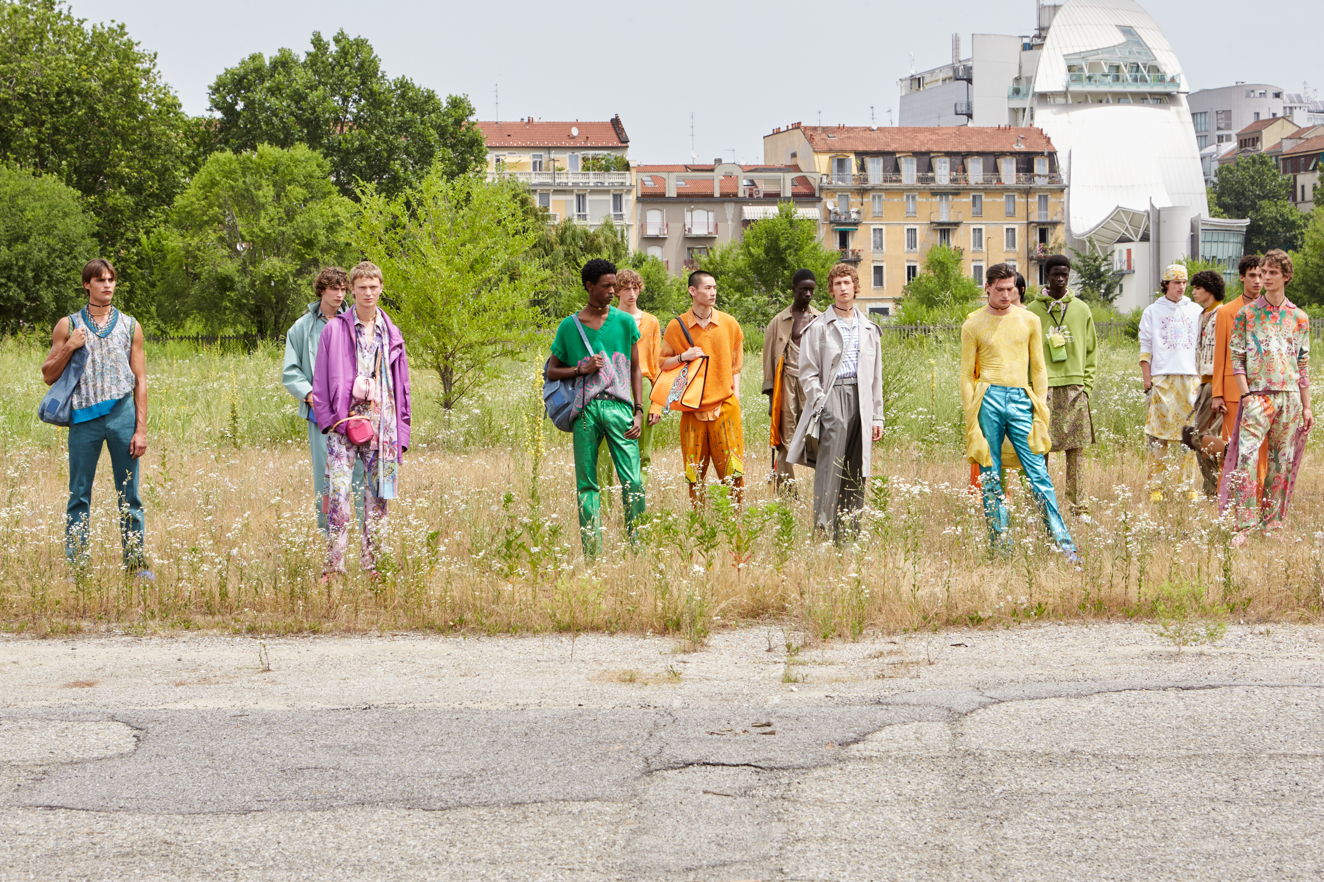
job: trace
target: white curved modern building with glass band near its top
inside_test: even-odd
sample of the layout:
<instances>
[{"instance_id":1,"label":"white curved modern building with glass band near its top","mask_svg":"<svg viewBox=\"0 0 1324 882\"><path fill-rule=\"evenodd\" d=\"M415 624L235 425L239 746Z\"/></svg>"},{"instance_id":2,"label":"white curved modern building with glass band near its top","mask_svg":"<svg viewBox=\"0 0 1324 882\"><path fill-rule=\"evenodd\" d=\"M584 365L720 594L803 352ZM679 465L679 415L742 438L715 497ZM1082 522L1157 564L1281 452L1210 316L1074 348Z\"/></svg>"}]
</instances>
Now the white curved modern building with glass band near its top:
<instances>
[{"instance_id":1,"label":"white curved modern building with glass band near its top","mask_svg":"<svg viewBox=\"0 0 1324 882\"><path fill-rule=\"evenodd\" d=\"M1209 217L1189 87L1153 19L1133 0L1041 3L1037 13L1033 38L974 34L949 79L935 69L902 81L900 124L936 124L923 118L939 107L932 87L924 95L932 82L956 99L941 104L948 120L955 110L973 126L1042 128L1067 182L1067 245L1112 251L1123 308L1148 304L1177 258L1234 271L1246 222Z\"/></svg>"}]
</instances>

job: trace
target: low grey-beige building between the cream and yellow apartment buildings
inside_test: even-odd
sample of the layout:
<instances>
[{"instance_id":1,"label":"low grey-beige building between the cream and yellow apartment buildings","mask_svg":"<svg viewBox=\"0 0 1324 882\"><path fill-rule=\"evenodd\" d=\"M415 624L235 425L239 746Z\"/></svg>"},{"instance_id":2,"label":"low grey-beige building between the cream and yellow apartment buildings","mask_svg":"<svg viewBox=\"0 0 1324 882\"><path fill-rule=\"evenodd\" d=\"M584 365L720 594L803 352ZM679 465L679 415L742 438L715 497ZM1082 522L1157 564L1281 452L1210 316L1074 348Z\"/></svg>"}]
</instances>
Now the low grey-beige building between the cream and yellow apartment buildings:
<instances>
[{"instance_id":1,"label":"low grey-beige building between the cream and yellow apartment buildings","mask_svg":"<svg viewBox=\"0 0 1324 882\"><path fill-rule=\"evenodd\" d=\"M800 217L818 220L818 184L800 167L712 164L637 165L634 247L659 258L673 275L726 242L739 242L751 223L792 201Z\"/></svg>"}]
</instances>

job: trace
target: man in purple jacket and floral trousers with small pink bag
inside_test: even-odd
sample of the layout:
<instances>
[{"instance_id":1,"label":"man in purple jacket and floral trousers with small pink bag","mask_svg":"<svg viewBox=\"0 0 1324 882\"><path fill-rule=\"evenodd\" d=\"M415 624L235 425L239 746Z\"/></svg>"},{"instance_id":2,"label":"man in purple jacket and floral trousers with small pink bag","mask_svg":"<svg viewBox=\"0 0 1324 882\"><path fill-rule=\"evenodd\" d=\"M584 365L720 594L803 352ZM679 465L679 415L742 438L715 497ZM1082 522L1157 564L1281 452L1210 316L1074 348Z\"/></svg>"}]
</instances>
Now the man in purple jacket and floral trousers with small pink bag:
<instances>
[{"instance_id":1,"label":"man in purple jacket and floral trousers with small pink bag","mask_svg":"<svg viewBox=\"0 0 1324 882\"><path fill-rule=\"evenodd\" d=\"M409 447L409 358L400 329L377 307L381 270L364 261L350 272L354 309L322 329L312 369L312 413L327 435L327 561L323 583L344 573L354 520L351 480L363 461L361 566L376 579L385 540L387 500L396 497Z\"/></svg>"}]
</instances>

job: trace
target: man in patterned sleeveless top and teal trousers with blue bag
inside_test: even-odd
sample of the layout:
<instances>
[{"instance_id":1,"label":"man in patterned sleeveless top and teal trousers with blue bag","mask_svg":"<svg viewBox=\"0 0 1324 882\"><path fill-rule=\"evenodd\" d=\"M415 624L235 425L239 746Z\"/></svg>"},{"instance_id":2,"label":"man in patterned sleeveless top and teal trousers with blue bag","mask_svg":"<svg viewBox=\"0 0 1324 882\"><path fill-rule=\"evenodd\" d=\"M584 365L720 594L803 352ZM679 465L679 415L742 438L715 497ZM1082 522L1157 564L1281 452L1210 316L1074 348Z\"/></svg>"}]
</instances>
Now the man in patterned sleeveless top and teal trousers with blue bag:
<instances>
[{"instance_id":1,"label":"man in patterned sleeveless top and teal trousers with blue bag","mask_svg":"<svg viewBox=\"0 0 1324 882\"><path fill-rule=\"evenodd\" d=\"M122 512L119 538L124 567L154 578L143 553L143 502L138 496L138 460L147 451L147 361L143 329L114 305L115 267L101 258L82 271L87 305L56 323L50 353L41 378L54 385L74 352L86 346L83 368L73 397L69 426L69 506L65 514L65 553L70 562L87 559L87 518L91 484L101 448L110 448L110 467Z\"/></svg>"}]
</instances>

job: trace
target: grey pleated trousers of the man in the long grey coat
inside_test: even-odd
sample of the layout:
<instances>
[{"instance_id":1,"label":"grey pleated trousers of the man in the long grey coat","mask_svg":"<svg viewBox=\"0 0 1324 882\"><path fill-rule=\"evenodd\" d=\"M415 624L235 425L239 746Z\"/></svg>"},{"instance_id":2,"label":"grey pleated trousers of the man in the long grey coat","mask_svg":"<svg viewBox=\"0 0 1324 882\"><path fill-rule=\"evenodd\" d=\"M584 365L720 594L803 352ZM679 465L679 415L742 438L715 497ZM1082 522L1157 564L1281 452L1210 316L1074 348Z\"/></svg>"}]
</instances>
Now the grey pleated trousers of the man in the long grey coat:
<instances>
[{"instance_id":1,"label":"grey pleated trousers of the man in the long grey coat","mask_svg":"<svg viewBox=\"0 0 1324 882\"><path fill-rule=\"evenodd\" d=\"M854 377L838 380L828 390L828 401L818 418L818 467L814 469L814 525L841 541L842 514L859 528L859 510L865 506L862 459L863 436L859 428L859 387Z\"/></svg>"}]
</instances>

